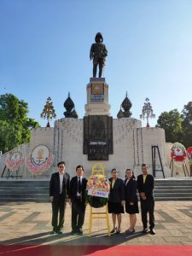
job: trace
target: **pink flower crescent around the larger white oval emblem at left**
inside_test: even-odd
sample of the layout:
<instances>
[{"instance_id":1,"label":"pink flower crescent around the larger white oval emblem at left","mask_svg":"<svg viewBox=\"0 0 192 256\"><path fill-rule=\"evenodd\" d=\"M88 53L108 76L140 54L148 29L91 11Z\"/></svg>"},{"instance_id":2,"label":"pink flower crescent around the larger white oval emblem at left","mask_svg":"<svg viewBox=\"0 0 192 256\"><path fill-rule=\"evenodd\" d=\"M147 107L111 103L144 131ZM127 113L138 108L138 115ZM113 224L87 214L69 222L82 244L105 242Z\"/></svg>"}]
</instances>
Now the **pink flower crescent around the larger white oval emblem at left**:
<instances>
[{"instance_id":1,"label":"pink flower crescent around the larger white oval emblem at left","mask_svg":"<svg viewBox=\"0 0 192 256\"><path fill-rule=\"evenodd\" d=\"M35 175L42 174L43 172L49 170L50 166L52 166L53 164L53 161L54 161L54 154L52 153L49 154L49 158L41 166L38 166L32 163L31 154L28 154L26 156L26 166L28 170Z\"/></svg>"}]
</instances>

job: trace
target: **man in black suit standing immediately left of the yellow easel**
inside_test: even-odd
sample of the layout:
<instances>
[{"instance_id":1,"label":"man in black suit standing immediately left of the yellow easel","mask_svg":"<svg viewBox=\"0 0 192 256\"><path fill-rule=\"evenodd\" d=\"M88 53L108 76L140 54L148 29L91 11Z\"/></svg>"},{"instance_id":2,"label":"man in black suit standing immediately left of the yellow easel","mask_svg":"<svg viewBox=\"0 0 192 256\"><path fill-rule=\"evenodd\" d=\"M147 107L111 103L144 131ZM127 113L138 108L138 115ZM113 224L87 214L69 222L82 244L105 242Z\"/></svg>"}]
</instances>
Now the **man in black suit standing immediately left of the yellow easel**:
<instances>
[{"instance_id":1,"label":"man in black suit standing immediately left of the yellow easel","mask_svg":"<svg viewBox=\"0 0 192 256\"><path fill-rule=\"evenodd\" d=\"M85 213L85 191L87 179L83 177L84 167L77 166L77 176L73 177L70 183L69 197L72 203L72 235L82 235Z\"/></svg>"}]
</instances>

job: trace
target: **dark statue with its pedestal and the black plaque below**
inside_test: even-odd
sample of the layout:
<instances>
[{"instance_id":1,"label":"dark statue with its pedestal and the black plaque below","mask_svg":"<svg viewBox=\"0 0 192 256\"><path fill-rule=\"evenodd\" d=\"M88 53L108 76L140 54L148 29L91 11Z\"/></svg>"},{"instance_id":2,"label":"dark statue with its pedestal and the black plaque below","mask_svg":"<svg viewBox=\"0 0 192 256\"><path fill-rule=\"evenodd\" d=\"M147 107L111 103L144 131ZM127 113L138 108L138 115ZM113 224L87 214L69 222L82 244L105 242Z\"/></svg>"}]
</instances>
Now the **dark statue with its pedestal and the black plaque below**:
<instances>
[{"instance_id":1,"label":"dark statue with its pedestal and the black plaque below","mask_svg":"<svg viewBox=\"0 0 192 256\"><path fill-rule=\"evenodd\" d=\"M90 47L90 59L93 59L93 78L87 84L87 104L84 117L84 154L88 160L108 160L113 154L113 118L110 117L108 104L108 84L102 78L102 68L108 50L102 44L101 33L96 34L96 43ZM99 78L96 69L99 65Z\"/></svg>"}]
</instances>

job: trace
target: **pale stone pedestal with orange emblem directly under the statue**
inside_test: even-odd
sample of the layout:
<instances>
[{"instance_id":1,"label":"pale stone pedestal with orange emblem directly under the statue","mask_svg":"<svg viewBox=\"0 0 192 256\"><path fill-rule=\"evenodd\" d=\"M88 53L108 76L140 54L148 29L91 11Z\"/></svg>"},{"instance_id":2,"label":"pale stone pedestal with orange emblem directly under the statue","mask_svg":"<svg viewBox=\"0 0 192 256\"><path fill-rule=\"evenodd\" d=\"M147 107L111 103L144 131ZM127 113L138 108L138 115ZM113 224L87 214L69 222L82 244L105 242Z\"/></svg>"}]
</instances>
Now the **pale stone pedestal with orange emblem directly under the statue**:
<instances>
[{"instance_id":1,"label":"pale stone pedestal with orange emblem directly under the statue","mask_svg":"<svg viewBox=\"0 0 192 256\"><path fill-rule=\"evenodd\" d=\"M110 115L108 104L108 84L105 79L91 78L87 84L87 104L84 106L85 116Z\"/></svg>"}]
</instances>

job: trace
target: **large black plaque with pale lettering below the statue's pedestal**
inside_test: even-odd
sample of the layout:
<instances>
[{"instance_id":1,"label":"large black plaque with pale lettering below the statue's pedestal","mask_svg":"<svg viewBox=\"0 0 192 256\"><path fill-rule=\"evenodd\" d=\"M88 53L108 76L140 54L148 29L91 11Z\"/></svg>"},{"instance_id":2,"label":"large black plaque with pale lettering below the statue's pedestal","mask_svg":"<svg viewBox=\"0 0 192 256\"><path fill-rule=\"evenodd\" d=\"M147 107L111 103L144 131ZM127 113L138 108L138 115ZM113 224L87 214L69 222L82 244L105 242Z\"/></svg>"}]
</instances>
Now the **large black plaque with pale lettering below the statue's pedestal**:
<instances>
[{"instance_id":1,"label":"large black plaque with pale lettering below the statue's pedestal","mask_svg":"<svg viewBox=\"0 0 192 256\"><path fill-rule=\"evenodd\" d=\"M88 154L88 160L108 160L108 154L113 154L112 117L84 117L84 154Z\"/></svg>"}]
</instances>

